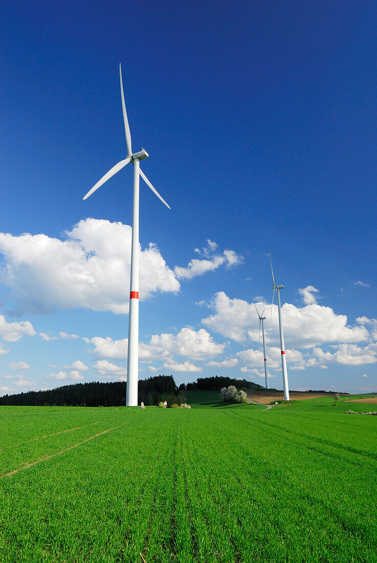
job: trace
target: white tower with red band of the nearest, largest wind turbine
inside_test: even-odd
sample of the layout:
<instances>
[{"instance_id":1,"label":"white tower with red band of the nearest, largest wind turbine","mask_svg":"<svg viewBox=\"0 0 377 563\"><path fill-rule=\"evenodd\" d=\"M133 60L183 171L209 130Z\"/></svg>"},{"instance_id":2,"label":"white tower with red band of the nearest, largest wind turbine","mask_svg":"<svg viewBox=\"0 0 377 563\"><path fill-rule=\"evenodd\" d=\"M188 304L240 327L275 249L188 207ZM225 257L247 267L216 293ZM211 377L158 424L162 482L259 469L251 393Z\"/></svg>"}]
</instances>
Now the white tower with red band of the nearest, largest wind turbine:
<instances>
[{"instance_id":1,"label":"white tower with red band of the nearest, largest wind turbine","mask_svg":"<svg viewBox=\"0 0 377 563\"><path fill-rule=\"evenodd\" d=\"M133 160L131 281L129 284L127 406L137 406L139 347L139 179L140 162Z\"/></svg>"}]
</instances>

